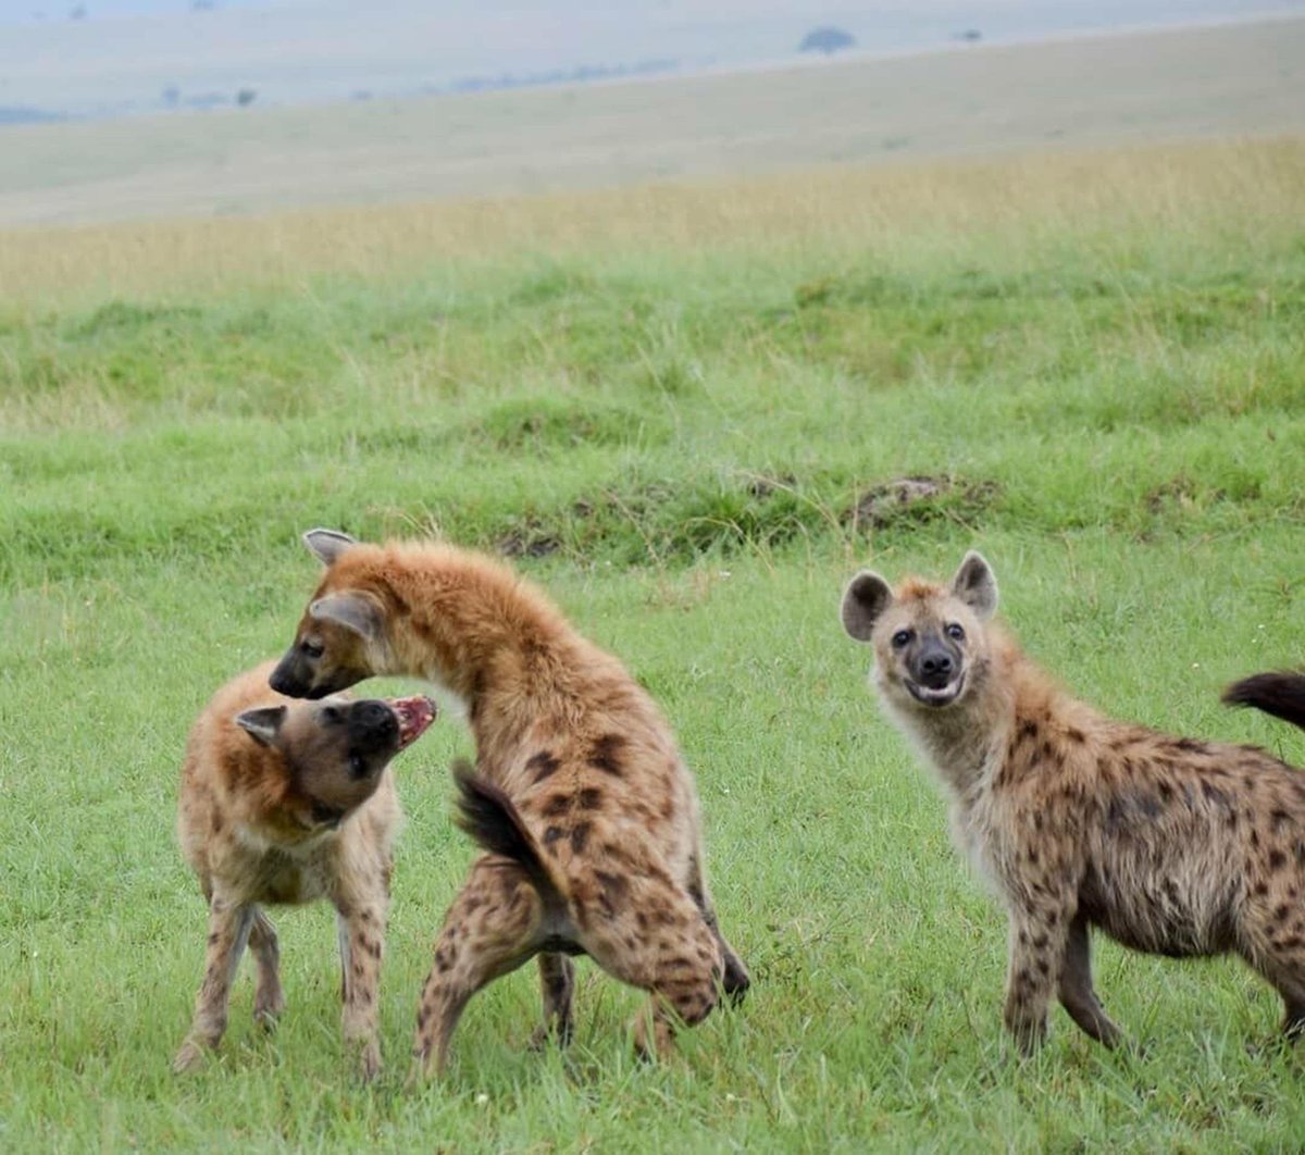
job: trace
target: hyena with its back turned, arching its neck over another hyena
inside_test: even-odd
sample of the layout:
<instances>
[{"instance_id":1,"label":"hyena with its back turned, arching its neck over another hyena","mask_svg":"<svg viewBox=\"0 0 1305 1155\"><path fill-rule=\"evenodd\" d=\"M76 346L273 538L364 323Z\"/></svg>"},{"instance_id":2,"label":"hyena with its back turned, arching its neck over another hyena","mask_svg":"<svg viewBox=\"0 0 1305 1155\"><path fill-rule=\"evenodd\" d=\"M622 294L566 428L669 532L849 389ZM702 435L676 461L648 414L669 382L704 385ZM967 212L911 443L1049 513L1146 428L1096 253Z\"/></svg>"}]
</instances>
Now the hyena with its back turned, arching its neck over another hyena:
<instances>
[{"instance_id":1,"label":"hyena with its back turned, arching its neck over another hyena","mask_svg":"<svg viewBox=\"0 0 1305 1155\"><path fill-rule=\"evenodd\" d=\"M676 1021L703 1019L718 984L741 997L748 972L716 925L693 778L626 670L488 557L330 530L304 540L326 573L271 685L317 697L376 673L424 677L466 702L476 740L479 778L461 782L465 805L483 807L467 826L496 852L476 860L436 942L422 1071L442 1070L467 1000L536 954L540 1034L562 1043L568 954L651 993L634 1028L645 1055L669 1047Z\"/></svg>"}]
</instances>

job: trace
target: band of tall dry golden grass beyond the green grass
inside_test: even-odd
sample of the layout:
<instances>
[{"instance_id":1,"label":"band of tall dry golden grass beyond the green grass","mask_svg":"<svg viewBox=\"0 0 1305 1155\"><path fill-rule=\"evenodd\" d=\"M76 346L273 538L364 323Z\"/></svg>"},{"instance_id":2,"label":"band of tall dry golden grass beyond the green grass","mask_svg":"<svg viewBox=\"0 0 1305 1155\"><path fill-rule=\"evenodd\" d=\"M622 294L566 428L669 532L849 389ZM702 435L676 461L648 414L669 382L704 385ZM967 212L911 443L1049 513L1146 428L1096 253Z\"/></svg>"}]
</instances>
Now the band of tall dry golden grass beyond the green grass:
<instances>
[{"instance_id":1,"label":"band of tall dry golden grass beyond the green grass","mask_svg":"<svg viewBox=\"0 0 1305 1155\"><path fill-rule=\"evenodd\" d=\"M523 253L692 260L760 240L771 253L872 252L894 270L940 260L1013 269L1070 240L1124 256L1160 236L1180 257L1212 239L1255 249L1301 232L1302 219L1305 140L1241 140L0 232L0 308L385 279Z\"/></svg>"}]
</instances>

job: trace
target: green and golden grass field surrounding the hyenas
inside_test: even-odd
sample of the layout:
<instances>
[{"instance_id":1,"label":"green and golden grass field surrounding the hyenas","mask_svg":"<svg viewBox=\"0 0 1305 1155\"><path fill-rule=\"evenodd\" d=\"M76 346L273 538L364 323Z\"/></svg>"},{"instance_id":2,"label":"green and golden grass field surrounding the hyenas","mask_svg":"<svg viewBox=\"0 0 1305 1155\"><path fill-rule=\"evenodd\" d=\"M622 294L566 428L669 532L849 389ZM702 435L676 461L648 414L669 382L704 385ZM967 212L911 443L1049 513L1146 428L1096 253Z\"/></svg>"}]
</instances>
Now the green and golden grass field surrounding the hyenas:
<instances>
[{"instance_id":1,"label":"green and golden grass field surrounding the hyenas","mask_svg":"<svg viewBox=\"0 0 1305 1155\"><path fill-rule=\"evenodd\" d=\"M1296 1147L1305 1060L1232 961L1101 944L1146 1049L1056 1010L1011 1060L1002 916L837 606L860 564L977 546L1086 697L1305 762L1218 705L1305 655L1302 189L1279 140L0 234L0 1146ZM852 516L908 475L941 492ZM634 996L581 962L568 1055L523 1049L522 971L405 1088L472 857L445 718L397 763L381 1079L322 907L277 919L277 1035L241 976L219 1056L170 1074L205 933L185 731L290 638L313 525L512 553L663 703L756 979L679 1061L630 1058Z\"/></svg>"}]
</instances>

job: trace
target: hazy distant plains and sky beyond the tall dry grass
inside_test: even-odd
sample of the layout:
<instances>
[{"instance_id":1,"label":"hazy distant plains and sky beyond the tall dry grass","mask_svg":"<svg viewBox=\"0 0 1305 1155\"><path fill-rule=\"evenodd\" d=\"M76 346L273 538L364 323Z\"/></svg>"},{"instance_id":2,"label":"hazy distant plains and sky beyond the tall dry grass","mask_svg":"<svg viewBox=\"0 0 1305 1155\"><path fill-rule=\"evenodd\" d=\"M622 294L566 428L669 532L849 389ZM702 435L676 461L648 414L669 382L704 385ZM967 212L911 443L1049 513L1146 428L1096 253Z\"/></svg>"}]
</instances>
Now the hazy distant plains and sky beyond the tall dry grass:
<instances>
[{"instance_id":1,"label":"hazy distant plains and sky beyond the tall dry grass","mask_svg":"<svg viewBox=\"0 0 1305 1155\"><path fill-rule=\"evenodd\" d=\"M0 224L1272 133L1305 116L1301 16L1302 0L0 0Z\"/></svg>"}]
</instances>

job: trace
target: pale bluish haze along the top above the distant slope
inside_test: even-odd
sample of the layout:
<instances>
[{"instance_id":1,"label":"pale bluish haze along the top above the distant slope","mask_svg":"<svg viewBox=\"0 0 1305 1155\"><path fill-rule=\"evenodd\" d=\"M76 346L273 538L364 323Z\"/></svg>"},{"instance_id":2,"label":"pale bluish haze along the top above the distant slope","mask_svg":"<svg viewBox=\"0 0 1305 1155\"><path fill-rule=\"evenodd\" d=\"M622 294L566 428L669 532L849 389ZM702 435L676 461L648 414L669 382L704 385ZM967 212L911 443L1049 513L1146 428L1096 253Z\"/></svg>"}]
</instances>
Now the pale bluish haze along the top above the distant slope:
<instances>
[{"instance_id":1,"label":"pale bluish haze along the top above the distant slope","mask_svg":"<svg viewBox=\"0 0 1305 1155\"><path fill-rule=\"evenodd\" d=\"M728 69L791 61L818 25L883 54L955 47L967 29L1036 40L1255 10L1305 0L0 0L0 108L141 112L164 93L239 89L266 107L650 60Z\"/></svg>"}]
</instances>

